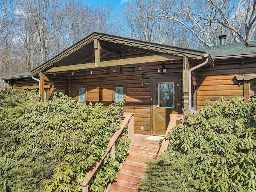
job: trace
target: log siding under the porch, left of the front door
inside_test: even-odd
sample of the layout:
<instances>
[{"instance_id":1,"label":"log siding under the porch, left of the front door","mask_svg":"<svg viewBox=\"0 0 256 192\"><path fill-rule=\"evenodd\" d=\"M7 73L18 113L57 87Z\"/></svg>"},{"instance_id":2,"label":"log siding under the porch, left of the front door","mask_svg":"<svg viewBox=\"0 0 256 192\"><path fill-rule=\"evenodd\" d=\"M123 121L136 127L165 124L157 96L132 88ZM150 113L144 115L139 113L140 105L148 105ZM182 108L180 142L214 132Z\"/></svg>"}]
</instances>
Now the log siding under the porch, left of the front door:
<instances>
[{"instance_id":1,"label":"log siding under the porch, left of the front door","mask_svg":"<svg viewBox=\"0 0 256 192\"><path fill-rule=\"evenodd\" d=\"M123 66L121 74L118 74L118 69L109 68L107 74L106 68L92 69L93 72L84 71L69 74L69 96L78 99L78 87L87 87L86 102L104 102L105 106L112 103L112 84L126 84L126 112L134 112L134 133L136 134L150 134L151 122L151 96L150 96L150 77L154 76L180 76L182 77L182 61L178 63L165 63L167 72L158 73L157 69L162 68L162 63L141 64L132 66ZM140 69L141 67L141 69ZM96 71L98 70L98 71ZM142 86L142 75L143 83ZM48 75L47 75L48 76ZM48 77L49 78L49 77ZM49 78L50 79L50 78ZM183 89L182 89L183 90ZM182 94L183 96L183 94ZM183 102L182 102L183 104ZM141 130L141 127L144 130Z\"/></svg>"}]
</instances>

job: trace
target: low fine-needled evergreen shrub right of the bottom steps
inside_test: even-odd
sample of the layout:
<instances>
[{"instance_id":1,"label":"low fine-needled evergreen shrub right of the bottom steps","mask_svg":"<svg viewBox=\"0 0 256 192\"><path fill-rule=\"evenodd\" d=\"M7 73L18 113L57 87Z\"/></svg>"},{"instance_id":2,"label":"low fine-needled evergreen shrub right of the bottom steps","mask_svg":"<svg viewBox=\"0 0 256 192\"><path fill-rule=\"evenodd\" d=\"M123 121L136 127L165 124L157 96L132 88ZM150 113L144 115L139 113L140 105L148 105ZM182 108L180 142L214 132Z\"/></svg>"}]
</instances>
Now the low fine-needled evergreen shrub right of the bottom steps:
<instances>
[{"instance_id":1,"label":"low fine-needled evergreen shrub right of the bottom steps","mask_svg":"<svg viewBox=\"0 0 256 192\"><path fill-rule=\"evenodd\" d=\"M170 160L166 154L161 154L155 161L147 162L146 178L140 182L140 189L145 192L195 192L190 174L193 162L193 156ZM185 182L188 178L190 180Z\"/></svg>"}]
</instances>

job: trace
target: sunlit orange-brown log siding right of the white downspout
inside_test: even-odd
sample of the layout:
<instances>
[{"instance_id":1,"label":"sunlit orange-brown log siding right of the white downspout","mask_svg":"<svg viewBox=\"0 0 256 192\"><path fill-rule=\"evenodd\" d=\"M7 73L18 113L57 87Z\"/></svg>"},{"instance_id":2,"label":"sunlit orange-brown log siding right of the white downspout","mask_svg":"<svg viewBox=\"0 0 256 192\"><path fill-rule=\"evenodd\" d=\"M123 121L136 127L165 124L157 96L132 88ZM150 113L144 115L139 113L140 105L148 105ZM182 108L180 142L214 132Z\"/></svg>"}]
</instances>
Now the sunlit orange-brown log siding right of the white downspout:
<instances>
[{"instance_id":1,"label":"sunlit orange-brown log siding right of the white downspout","mask_svg":"<svg viewBox=\"0 0 256 192\"><path fill-rule=\"evenodd\" d=\"M256 61L253 58L215 60L214 67L198 69L197 108L205 106L205 100L213 103L221 97L228 100L236 95L243 97L243 81L236 80L235 76L250 73L256 73Z\"/></svg>"}]
</instances>

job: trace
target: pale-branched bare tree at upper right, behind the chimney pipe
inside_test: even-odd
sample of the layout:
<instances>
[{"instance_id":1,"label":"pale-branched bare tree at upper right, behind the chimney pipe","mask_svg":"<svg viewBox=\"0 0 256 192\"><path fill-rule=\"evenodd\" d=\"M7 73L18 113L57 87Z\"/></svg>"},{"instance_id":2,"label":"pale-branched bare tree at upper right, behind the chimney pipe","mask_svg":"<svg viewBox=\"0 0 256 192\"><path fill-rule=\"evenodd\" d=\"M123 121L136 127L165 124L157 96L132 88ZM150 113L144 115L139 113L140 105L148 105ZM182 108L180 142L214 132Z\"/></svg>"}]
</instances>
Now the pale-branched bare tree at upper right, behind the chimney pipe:
<instances>
[{"instance_id":1,"label":"pale-branched bare tree at upper right, behind the chimney pipe","mask_svg":"<svg viewBox=\"0 0 256 192\"><path fill-rule=\"evenodd\" d=\"M162 12L156 18L176 21L205 46L218 45L218 36L226 42L250 41L256 30L256 2L253 0L185 0L160 1L153 10ZM198 47L198 46L197 46Z\"/></svg>"}]
</instances>

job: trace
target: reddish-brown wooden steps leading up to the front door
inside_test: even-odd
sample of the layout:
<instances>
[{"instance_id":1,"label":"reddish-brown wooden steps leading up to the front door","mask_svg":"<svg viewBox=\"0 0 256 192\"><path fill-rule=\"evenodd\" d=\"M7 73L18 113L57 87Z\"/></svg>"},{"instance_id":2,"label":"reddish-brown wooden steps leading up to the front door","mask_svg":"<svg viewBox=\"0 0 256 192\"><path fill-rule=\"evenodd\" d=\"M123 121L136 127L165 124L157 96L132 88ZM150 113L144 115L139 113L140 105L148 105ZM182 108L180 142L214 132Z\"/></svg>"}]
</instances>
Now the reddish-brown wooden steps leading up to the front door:
<instances>
[{"instance_id":1,"label":"reddish-brown wooden steps leading up to the front door","mask_svg":"<svg viewBox=\"0 0 256 192\"><path fill-rule=\"evenodd\" d=\"M117 180L112 183L110 192L138 192L138 183L144 178L148 160L154 160L158 153L158 140L146 140L149 136L134 135L132 149L127 160L122 163Z\"/></svg>"}]
</instances>

